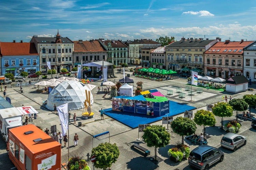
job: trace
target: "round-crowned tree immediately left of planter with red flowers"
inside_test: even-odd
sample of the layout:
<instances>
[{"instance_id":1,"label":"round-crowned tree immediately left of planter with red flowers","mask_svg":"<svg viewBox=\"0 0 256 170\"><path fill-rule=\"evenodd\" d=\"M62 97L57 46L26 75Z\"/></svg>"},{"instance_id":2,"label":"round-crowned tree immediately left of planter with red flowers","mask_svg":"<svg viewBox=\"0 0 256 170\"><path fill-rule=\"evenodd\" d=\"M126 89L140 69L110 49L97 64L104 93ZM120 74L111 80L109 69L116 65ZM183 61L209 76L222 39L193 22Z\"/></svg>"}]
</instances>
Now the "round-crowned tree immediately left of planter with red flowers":
<instances>
[{"instance_id":1,"label":"round-crowned tree immediately left of planter with red flowers","mask_svg":"<svg viewBox=\"0 0 256 170\"><path fill-rule=\"evenodd\" d=\"M223 117L230 117L233 115L233 107L226 102L218 102L212 107L212 113L215 116L222 117L221 128L223 129Z\"/></svg>"}]
</instances>

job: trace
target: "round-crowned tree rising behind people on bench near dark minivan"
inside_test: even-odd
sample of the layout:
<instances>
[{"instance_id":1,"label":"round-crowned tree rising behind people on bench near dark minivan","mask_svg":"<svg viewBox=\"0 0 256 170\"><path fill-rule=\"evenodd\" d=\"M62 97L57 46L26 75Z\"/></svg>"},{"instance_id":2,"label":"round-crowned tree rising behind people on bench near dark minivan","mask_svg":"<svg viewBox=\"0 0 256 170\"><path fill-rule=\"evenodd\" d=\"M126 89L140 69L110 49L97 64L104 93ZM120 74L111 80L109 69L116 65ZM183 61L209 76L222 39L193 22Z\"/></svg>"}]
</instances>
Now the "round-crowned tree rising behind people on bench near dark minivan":
<instances>
[{"instance_id":1,"label":"round-crowned tree rising behind people on bench near dark minivan","mask_svg":"<svg viewBox=\"0 0 256 170\"><path fill-rule=\"evenodd\" d=\"M203 125L203 136L205 136L205 126L215 125L216 119L212 112L201 109L195 113L194 122L200 126Z\"/></svg>"}]
</instances>

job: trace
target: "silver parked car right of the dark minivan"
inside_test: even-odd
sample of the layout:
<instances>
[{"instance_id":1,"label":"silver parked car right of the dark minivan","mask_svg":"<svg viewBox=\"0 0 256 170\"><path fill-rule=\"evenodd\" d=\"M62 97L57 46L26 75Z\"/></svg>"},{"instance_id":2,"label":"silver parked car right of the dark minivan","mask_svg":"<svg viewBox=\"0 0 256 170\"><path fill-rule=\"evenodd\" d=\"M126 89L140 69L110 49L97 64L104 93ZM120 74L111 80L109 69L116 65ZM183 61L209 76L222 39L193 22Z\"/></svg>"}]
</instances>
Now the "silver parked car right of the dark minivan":
<instances>
[{"instance_id":1,"label":"silver parked car right of the dark minivan","mask_svg":"<svg viewBox=\"0 0 256 170\"><path fill-rule=\"evenodd\" d=\"M236 151L238 147L246 145L246 137L235 133L227 133L221 139L221 146Z\"/></svg>"}]
</instances>

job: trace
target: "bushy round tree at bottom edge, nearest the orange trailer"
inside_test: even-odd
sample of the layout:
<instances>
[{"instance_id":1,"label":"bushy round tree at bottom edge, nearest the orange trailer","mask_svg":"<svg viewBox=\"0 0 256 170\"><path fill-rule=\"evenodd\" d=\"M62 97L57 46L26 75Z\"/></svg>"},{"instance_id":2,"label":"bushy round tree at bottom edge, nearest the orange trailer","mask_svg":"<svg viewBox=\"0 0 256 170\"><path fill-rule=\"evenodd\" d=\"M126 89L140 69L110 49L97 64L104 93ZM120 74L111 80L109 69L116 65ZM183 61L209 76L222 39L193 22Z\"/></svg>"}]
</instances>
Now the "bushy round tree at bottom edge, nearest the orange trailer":
<instances>
[{"instance_id":1,"label":"bushy round tree at bottom edge, nearest the orange trailer","mask_svg":"<svg viewBox=\"0 0 256 170\"><path fill-rule=\"evenodd\" d=\"M91 155L95 155L96 161L94 163L96 168L106 170L116 162L120 152L116 144L108 142L101 143L99 146L91 150Z\"/></svg>"}]
</instances>

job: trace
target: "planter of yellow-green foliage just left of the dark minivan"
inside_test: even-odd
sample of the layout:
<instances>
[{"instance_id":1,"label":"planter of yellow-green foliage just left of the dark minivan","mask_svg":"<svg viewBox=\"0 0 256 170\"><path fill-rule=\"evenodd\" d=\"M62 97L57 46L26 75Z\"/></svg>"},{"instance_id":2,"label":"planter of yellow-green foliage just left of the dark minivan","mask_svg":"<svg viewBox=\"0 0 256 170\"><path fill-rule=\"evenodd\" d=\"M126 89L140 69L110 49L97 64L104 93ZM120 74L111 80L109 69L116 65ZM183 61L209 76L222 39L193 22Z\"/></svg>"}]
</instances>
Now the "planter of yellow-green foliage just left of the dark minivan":
<instances>
[{"instance_id":1,"label":"planter of yellow-green foliage just left of the dark minivan","mask_svg":"<svg viewBox=\"0 0 256 170\"><path fill-rule=\"evenodd\" d=\"M170 156L170 159L174 162L179 162L183 158L188 158L188 155L190 153L190 149L188 146L182 144L181 142L177 142L176 146L174 148L169 149L168 155Z\"/></svg>"}]
</instances>

